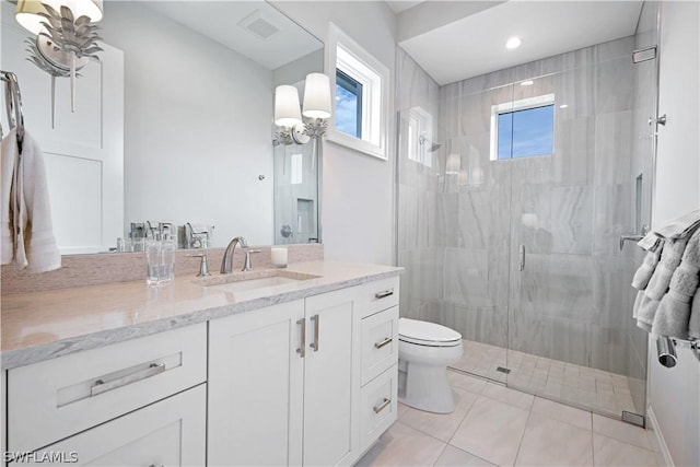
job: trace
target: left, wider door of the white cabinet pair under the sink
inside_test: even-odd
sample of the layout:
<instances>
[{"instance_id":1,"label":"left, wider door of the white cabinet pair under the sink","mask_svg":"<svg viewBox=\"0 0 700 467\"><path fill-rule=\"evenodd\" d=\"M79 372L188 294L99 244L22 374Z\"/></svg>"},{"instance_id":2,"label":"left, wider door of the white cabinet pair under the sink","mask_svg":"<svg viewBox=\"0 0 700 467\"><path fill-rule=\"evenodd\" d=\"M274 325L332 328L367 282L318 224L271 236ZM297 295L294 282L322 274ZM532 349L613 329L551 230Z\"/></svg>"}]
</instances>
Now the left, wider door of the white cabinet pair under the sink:
<instances>
[{"instance_id":1,"label":"left, wider door of the white cabinet pair under the sink","mask_svg":"<svg viewBox=\"0 0 700 467\"><path fill-rule=\"evenodd\" d=\"M209 465L301 465L303 318L298 301L209 322Z\"/></svg>"}]
</instances>

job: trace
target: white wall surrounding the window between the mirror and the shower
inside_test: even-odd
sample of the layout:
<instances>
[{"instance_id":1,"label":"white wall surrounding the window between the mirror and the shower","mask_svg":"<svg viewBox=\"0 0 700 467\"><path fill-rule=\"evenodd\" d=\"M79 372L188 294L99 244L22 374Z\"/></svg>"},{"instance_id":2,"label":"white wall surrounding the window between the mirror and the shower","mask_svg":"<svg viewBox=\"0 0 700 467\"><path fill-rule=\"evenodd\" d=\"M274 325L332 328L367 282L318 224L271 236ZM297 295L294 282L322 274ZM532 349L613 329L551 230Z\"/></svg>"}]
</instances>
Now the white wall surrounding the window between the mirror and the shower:
<instances>
[{"instance_id":1,"label":"white wall surrounding the window between the mirror and the shower","mask_svg":"<svg viewBox=\"0 0 700 467\"><path fill-rule=\"evenodd\" d=\"M392 71L396 17L383 1L295 2L272 4L320 38L334 22ZM389 109L389 160L382 161L324 141L323 243L326 259L389 265L394 252L395 114Z\"/></svg>"}]
</instances>

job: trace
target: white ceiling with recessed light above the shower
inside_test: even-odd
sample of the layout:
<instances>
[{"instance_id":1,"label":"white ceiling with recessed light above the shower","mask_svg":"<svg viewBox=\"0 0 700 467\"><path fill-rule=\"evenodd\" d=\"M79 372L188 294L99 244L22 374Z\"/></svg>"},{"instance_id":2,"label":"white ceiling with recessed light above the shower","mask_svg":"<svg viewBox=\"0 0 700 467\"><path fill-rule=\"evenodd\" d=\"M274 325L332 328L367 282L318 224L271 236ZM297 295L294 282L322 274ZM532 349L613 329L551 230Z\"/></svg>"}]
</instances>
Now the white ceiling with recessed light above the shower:
<instances>
[{"instance_id":1,"label":"white ceiling with recessed light above the shower","mask_svg":"<svg viewBox=\"0 0 700 467\"><path fill-rule=\"evenodd\" d=\"M387 3L400 9L399 45L440 85L632 35L642 8L641 0L472 2L476 11L458 4L466 2ZM522 46L508 50L511 36Z\"/></svg>"}]
</instances>

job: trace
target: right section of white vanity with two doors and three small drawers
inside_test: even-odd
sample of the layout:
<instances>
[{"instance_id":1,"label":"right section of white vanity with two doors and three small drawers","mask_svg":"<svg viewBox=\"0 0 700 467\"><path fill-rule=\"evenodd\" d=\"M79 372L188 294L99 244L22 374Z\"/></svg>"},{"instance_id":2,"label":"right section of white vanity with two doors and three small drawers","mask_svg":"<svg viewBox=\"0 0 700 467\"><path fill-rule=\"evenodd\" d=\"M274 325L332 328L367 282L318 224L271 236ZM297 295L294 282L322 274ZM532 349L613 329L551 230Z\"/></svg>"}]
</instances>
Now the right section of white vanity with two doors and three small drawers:
<instances>
[{"instance_id":1,"label":"right section of white vanity with two doors and three small drawers","mask_svg":"<svg viewBox=\"0 0 700 467\"><path fill-rule=\"evenodd\" d=\"M390 278L209 322L208 464L357 462L396 420L397 303Z\"/></svg>"}]
</instances>

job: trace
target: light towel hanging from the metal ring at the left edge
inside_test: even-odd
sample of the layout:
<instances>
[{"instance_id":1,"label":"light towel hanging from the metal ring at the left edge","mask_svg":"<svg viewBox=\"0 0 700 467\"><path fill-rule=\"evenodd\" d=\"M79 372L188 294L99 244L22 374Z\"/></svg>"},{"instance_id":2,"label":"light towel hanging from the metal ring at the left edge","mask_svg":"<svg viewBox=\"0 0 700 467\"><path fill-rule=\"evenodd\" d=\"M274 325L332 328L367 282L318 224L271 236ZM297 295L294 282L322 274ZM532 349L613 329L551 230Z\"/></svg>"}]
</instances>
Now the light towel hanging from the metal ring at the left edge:
<instances>
[{"instance_id":1,"label":"light towel hanging from the metal ring at the left edge","mask_svg":"<svg viewBox=\"0 0 700 467\"><path fill-rule=\"evenodd\" d=\"M28 272L60 268L42 150L25 131L20 154L16 130L12 129L2 140L1 159L2 265L14 262Z\"/></svg>"}]
</instances>

